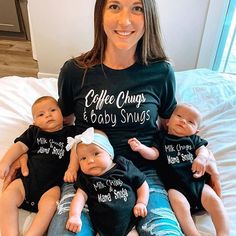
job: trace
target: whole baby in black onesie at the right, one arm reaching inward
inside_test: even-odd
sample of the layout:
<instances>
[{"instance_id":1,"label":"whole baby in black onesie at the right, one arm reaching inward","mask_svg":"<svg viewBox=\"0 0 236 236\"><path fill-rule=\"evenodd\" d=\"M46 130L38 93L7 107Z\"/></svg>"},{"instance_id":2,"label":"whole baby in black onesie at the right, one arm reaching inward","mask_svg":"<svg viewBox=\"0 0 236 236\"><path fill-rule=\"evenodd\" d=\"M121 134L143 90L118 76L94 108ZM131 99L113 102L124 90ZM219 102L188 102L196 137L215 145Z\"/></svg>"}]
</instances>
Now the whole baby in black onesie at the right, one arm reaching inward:
<instances>
[{"instance_id":1,"label":"whole baby in black onesie at the right, one arm reaching inward","mask_svg":"<svg viewBox=\"0 0 236 236\"><path fill-rule=\"evenodd\" d=\"M157 170L168 190L171 206L184 234L200 235L191 212L205 209L211 215L217 235L228 235L228 219L220 197L206 184L208 155L207 141L196 135L201 116L189 104L179 104L168 123L168 131L158 132L153 147L141 144L136 138L128 141L133 151L144 158L157 160Z\"/></svg>"}]
</instances>

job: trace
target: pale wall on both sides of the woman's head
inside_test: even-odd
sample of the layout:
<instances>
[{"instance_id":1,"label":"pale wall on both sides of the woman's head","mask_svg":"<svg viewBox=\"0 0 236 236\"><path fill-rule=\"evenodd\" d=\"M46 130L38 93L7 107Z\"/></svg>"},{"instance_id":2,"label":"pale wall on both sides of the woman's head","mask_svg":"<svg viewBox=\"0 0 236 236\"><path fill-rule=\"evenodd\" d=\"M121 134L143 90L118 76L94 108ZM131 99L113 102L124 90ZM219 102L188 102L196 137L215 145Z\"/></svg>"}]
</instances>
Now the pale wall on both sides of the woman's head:
<instances>
[{"instance_id":1,"label":"pale wall on both sides of the woman's head","mask_svg":"<svg viewBox=\"0 0 236 236\"><path fill-rule=\"evenodd\" d=\"M66 59L90 49L94 2L28 0L39 77L56 76ZM210 2L157 1L166 50L177 71L197 67Z\"/></svg>"}]
</instances>

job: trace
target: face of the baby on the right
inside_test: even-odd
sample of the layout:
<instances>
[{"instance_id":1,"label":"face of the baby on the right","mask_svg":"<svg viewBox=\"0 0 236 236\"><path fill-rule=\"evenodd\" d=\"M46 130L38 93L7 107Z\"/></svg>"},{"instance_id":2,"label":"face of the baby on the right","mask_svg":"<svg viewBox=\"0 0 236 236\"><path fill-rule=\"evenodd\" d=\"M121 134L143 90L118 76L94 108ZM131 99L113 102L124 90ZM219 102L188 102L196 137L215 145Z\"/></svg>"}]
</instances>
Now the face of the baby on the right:
<instances>
[{"instance_id":1,"label":"face of the baby on the right","mask_svg":"<svg viewBox=\"0 0 236 236\"><path fill-rule=\"evenodd\" d=\"M168 133L179 137L196 134L199 122L199 113L195 109L188 106L177 107L167 124Z\"/></svg>"}]
</instances>

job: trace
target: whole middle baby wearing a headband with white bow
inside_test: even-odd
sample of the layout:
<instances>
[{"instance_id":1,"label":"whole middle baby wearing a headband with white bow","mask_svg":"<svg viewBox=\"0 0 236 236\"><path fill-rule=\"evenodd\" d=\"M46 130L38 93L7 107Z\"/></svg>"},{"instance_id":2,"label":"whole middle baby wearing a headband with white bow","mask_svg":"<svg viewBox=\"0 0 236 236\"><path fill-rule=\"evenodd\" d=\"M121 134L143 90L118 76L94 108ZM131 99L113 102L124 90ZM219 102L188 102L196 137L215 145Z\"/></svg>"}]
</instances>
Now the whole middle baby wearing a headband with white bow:
<instances>
[{"instance_id":1,"label":"whole middle baby wearing a headband with white bow","mask_svg":"<svg viewBox=\"0 0 236 236\"><path fill-rule=\"evenodd\" d=\"M126 236L137 217L147 215L149 188L145 175L131 161L114 157L113 147L102 131L94 132L91 127L68 141L68 149L76 148L81 171L66 228L81 230L80 214L87 202L99 236Z\"/></svg>"}]
</instances>

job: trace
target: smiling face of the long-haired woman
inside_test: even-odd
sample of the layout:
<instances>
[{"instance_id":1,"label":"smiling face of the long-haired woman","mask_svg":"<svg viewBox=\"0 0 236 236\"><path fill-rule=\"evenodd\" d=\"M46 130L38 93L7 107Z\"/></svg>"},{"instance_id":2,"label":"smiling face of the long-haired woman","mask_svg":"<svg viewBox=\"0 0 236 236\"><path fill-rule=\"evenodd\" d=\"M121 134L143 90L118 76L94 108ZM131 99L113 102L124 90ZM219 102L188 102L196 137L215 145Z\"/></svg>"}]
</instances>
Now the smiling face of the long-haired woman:
<instances>
[{"instance_id":1,"label":"smiling face of the long-haired woman","mask_svg":"<svg viewBox=\"0 0 236 236\"><path fill-rule=\"evenodd\" d=\"M107 49L136 50L144 33L144 13L141 0L107 0L103 27Z\"/></svg>"}]
</instances>

